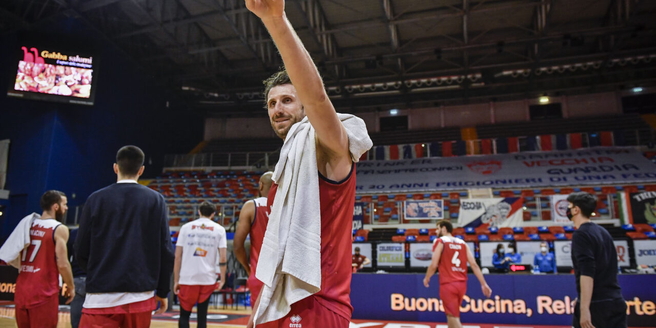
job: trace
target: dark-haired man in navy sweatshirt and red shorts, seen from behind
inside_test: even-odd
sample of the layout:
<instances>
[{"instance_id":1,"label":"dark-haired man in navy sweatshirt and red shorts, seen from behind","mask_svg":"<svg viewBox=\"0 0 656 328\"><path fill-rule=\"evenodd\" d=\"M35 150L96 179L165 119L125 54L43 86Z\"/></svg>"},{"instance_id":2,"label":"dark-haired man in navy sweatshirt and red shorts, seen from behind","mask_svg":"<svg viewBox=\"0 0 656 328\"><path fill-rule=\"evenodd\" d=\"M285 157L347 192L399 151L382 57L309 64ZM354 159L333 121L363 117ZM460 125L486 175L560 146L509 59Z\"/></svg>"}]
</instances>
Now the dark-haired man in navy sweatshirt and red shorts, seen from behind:
<instances>
[{"instance_id":1,"label":"dark-haired man in navy sweatshirt and red shorts, seen from behind","mask_svg":"<svg viewBox=\"0 0 656 328\"><path fill-rule=\"evenodd\" d=\"M144 152L116 154L117 183L89 196L80 216L75 256L87 272L81 327L149 327L167 309L174 251L164 197L136 182Z\"/></svg>"}]
</instances>

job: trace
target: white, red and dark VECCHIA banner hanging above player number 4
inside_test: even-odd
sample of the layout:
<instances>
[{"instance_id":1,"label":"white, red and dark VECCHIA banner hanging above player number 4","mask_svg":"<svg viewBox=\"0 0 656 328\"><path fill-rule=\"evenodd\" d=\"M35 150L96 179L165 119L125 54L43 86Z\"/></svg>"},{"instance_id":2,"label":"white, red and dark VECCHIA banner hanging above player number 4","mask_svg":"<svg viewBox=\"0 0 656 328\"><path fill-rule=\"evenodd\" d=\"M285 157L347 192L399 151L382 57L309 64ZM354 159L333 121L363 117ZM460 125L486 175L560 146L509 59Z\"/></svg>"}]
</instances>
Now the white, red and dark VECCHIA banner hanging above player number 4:
<instances>
[{"instance_id":1,"label":"white, red and dark VECCHIA banner hanging above player number 4","mask_svg":"<svg viewBox=\"0 0 656 328\"><path fill-rule=\"evenodd\" d=\"M491 227L522 226L522 198L461 199L458 224L476 228L481 224Z\"/></svg>"}]
</instances>

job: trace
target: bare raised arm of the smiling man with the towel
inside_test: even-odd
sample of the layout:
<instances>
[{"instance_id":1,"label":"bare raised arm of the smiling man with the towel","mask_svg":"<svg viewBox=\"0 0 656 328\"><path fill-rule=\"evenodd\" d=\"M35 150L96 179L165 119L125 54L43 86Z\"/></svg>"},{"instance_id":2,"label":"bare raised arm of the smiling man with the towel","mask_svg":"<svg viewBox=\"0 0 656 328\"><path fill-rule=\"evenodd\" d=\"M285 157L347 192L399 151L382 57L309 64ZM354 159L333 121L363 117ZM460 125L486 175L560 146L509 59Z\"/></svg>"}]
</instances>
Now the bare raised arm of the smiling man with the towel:
<instances>
[{"instance_id":1,"label":"bare raised arm of the smiling man with the towel","mask_svg":"<svg viewBox=\"0 0 656 328\"><path fill-rule=\"evenodd\" d=\"M264 22L283 59L289 79L312 123L318 144L331 157L350 158L348 136L328 98L312 57L292 28L283 0L245 0L246 7Z\"/></svg>"}]
</instances>

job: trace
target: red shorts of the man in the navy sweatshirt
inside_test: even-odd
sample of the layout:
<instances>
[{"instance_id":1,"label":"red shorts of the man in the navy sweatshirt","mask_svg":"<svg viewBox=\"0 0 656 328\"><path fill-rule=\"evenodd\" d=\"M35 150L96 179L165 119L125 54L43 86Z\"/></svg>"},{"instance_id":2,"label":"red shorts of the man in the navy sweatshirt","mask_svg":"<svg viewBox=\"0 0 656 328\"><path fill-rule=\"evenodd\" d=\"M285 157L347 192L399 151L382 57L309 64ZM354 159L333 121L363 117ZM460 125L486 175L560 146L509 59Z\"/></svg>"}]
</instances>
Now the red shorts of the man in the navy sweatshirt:
<instances>
[{"instance_id":1,"label":"red shorts of the man in the navy sweatshirt","mask_svg":"<svg viewBox=\"0 0 656 328\"><path fill-rule=\"evenodd\" d=\"M150 327L155 298L112 308L83 308L80 328Z\"/></svg>"}]
</instances>

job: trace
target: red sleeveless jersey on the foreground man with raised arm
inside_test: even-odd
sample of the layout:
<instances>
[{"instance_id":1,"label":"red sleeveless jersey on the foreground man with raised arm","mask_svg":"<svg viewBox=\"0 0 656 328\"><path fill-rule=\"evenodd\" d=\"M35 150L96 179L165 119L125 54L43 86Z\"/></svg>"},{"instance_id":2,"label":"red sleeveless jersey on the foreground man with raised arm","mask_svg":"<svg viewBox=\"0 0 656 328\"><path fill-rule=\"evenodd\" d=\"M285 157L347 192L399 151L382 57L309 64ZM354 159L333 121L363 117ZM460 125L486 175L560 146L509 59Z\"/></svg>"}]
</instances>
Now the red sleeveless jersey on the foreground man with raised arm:
<instances>
[{"instance_id":1,"label":"red sleeveless jersey on the foreground man with raised arm","mask_svg":"<svg viewBox=\"0 0 656 328\"><path fill-rule=\"evenodd\" d=\"M269 191L268 206L274 205L277 184ZM321 290L312 295L319 304L351 319L351 245L353 206L356 201L356 169L344 180L333 181L319 173L321 211Z\"/></svg>"}]
</instances>

